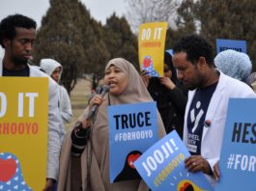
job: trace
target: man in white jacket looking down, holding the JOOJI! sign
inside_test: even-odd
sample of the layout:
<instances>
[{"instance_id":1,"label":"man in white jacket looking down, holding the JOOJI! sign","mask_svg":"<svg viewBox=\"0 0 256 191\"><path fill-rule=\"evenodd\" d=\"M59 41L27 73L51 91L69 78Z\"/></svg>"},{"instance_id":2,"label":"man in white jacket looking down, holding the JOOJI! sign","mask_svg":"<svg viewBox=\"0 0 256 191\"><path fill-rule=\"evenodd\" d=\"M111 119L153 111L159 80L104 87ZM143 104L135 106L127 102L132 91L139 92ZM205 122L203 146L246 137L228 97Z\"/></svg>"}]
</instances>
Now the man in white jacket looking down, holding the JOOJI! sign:
<instances>
[{"instance_id":1,"label":"man in white jacket looking down, holding the JOOJI! sign","mask_svg":"<svg viewBox=\"0 0 256 191\"><path fill-rule=\"evenodd\" d=\"M212 46L202 37L187 36L173 51L178 78L189 90L184 142L191 156L185 166L192 173L202 171L214 185L213 165L219 159L229 98L256 95L246 84L214 68Z\"/></svg>"}]
</instances>

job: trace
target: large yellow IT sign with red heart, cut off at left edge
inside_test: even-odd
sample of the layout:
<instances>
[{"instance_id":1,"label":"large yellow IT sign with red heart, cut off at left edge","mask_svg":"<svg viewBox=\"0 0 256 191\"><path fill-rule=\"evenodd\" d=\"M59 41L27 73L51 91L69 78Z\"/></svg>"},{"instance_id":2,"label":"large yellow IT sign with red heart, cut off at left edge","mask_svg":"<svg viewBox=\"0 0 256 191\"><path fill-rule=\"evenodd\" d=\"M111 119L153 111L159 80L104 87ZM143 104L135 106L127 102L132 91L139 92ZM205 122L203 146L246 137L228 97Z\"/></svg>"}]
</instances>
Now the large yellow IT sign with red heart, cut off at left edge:
<instances>
[{"instance_id":1,"label":"large yellow IT sign with red heart, cut off at left edge","mask_svg":"<svg viewBox=\"0 0 256 191\"><path fill-rule=\"evenodd\" d=\"M48 79L0 77L0 190L43 190Z\"/></svg>"}]
</instances>

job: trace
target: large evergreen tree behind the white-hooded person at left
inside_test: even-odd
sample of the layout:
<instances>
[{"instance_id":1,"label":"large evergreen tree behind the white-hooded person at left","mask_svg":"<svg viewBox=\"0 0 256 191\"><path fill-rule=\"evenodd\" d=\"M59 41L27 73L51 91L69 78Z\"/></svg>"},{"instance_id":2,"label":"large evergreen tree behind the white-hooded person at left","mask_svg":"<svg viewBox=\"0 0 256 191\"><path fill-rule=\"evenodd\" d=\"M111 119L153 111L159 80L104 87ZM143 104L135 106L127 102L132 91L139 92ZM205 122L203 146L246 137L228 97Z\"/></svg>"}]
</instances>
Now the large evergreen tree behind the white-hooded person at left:
<instances>
[{"instance_id":1,"label":"large evergreen tree behind the white-hooded person at left","mask_svg":"<svg viewBox=\"0 0 256 191\"><path fill-rule=\"evenodd\" d=\"M108 51L102 41L102 26L91 18L78 0L50 0L38 31L34 58L52 58L63 65L62 83L70 93L77 77L101 72Z\"/></svg>"}]
</instances>

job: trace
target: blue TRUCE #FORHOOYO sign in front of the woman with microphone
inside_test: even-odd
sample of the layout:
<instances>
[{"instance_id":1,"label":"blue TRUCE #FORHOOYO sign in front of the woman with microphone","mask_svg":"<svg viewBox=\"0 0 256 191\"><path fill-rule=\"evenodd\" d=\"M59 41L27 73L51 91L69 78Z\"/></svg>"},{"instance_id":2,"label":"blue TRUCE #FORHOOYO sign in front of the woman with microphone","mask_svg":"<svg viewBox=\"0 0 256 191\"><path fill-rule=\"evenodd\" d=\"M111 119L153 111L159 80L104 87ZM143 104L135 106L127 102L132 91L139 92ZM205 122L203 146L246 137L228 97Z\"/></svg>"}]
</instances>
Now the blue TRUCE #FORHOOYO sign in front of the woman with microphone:
<instances>
[{"instance_id":1,"label":"blue TRUCE #FORHOOYO sign in front of the woman with microphone","mask_svg":"<svg viewBox=\"0 0 256 191\"><path fill-rule=\"evenodd\" d=\"M110 182L141 178L133 162L156 143L156 102L108 107Z\"/></svg>"}]
</instances>

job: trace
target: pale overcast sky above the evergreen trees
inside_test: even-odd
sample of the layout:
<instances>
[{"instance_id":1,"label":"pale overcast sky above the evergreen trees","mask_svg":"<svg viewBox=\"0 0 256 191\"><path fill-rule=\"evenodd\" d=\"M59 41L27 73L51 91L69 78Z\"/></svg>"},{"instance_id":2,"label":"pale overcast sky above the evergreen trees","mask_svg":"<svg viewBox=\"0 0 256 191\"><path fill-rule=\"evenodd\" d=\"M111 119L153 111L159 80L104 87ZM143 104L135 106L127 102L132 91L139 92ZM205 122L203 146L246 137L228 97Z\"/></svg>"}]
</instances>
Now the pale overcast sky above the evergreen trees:
<instances>
[{"instance_id":1,"label":"pale overcast sky above the evergreen trees","mask_svg":"<svg viewBox=\"0 0 256 191\"><path fill-rule=\"evenodd\" d=\"M118 16L126 14L125 0L80 0L91 15L105 24L105 20L114 12ZM0 20L9 14L24 14L37 21L38 26L49 8L48 0L0 0ZM0 58L4 50L0 48Z\"/></svg>"}]
</instances>

